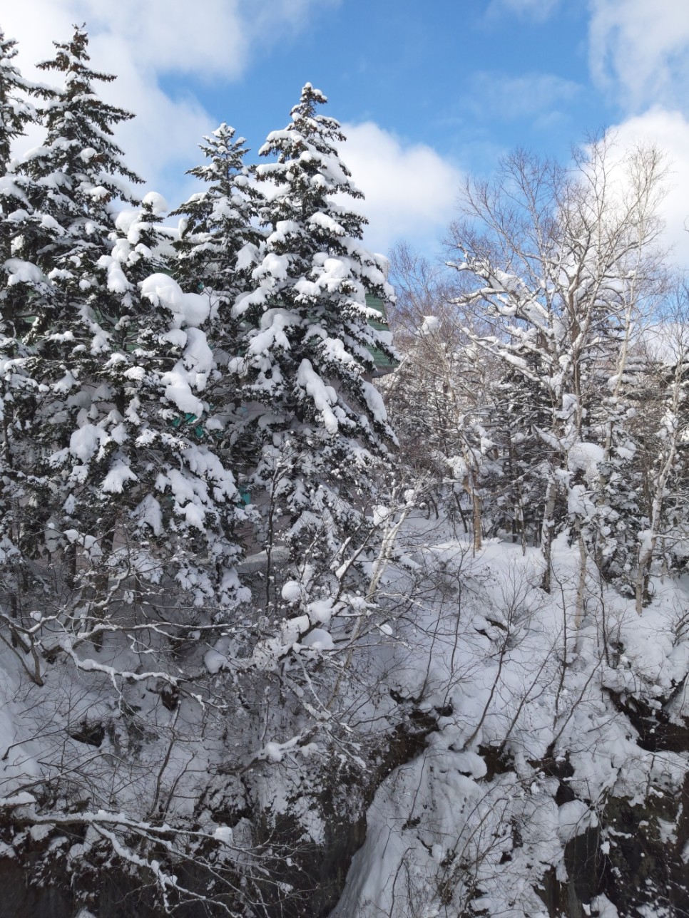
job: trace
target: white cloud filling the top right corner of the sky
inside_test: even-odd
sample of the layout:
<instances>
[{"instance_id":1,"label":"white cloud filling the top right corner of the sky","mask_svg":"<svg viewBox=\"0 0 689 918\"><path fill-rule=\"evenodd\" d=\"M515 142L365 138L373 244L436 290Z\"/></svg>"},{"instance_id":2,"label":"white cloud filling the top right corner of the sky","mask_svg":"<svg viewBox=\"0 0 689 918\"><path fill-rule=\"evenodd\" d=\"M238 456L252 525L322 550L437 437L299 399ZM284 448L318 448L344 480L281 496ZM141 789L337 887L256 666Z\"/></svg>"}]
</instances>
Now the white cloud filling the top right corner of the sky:
<instances>
[{"instance_id":1,"label":"white cloud filling the top right corner of the sky","mask_svg":"<svg viewBox=\"0 0 689 918\"><path fill-rule=\"evenodd\" d=\"M631 110L683 106L689 90L689 4L590 0L589 51L596 82Z\"/></svg>"}]
</instances>

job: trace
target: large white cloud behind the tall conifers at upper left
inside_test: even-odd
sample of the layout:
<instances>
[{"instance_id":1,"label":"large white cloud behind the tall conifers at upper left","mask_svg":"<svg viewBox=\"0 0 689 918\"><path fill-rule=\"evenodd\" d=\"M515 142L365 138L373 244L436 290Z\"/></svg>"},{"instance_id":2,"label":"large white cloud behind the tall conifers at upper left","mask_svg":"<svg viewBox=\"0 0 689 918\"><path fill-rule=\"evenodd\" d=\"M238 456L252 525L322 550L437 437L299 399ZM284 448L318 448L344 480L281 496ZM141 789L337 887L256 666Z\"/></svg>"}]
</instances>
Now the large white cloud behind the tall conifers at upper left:
<instances>
[{"instance_id":1,"label":"large white cloud behind the tall conifers at upper left","mask_svg":"<svg viewBox=\"0 0 689 918\"><path fill-rule=\"evenodd\" d=\"M52 57L52 40L70 39L73 23L86 22L94 69L118 77L98 84L97 92L137 116L116 133L127 163L175 200L173 192L186 185L184 171L198 163L198 141L217 124L193 95L166 95L159 77L186 73L204 80L236 79L257 49L291 37L314 9L336 2L28 0L7 6L3 28L19 42L17 61L25 76L59 83L60 74L37 71L34 64Z\"/></svg>"}]
</instances>

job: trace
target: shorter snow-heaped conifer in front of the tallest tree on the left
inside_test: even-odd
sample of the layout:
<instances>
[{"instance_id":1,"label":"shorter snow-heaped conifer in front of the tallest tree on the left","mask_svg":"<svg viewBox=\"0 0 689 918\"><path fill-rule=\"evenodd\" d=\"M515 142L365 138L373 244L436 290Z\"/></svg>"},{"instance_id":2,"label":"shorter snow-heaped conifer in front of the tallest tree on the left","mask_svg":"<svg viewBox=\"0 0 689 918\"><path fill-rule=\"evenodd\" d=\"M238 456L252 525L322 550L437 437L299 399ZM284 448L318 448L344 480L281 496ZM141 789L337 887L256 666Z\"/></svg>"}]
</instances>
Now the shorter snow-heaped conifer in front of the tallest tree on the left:
<instances>
[{"instance_id":1,"label":"shorter snow-heaped conifer in front of the tallest tree on the left","mask_svg":"<svg viewBox=\"0 0 689 918\"><path fill-rule=\"evenodd\" d=\"M68 522L92 519L113 576L135 556L141 583L175 577L181 605L186 596L226 615L238 587L232 528L243 514L213 448L205 389L221 374L200 329L209 300L160 273L163 207L149 195L139 213L120 214L112 253L97 263L88 306L102 341L81 381L69 446L51 464L69 472ZM109 601L102 589L96 596Z\"/></svg>"}]
</instances>

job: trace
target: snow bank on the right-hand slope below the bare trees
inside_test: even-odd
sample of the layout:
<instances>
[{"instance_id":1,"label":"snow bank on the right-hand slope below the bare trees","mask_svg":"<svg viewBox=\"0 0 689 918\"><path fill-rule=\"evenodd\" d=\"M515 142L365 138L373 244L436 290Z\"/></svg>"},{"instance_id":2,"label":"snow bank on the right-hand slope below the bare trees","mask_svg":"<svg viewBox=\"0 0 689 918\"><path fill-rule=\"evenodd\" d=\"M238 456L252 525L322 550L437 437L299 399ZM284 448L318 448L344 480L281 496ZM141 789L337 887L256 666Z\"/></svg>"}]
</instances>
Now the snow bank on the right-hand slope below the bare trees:
<instances>
[{"instance_id":1,"label":"snow bank on the right-hand slope below the bare trees","mask_svg":"<svg viewBox=\"0 0 689 918\"><path fill-rule=\"evenodd\" d=\"M564 537L548 596L537 549L492 540L474 556L465 540L435 535L414 554L435 591L416 584L425 600L401 629L414 653L396 688L423 698L439 729L379 787L333 918L461 915L469 902L501 918L547 915L544 875L567 878L565 845L599 825L608 795L676 794L689 765L685 753L641 748L615 704L660 706L684 686L672 714L684 710L685 582L657 580L639 617L589 572L576 629L578 554ZM563 782L573 799L556 801Z\"/></svg>"}]
</instances>

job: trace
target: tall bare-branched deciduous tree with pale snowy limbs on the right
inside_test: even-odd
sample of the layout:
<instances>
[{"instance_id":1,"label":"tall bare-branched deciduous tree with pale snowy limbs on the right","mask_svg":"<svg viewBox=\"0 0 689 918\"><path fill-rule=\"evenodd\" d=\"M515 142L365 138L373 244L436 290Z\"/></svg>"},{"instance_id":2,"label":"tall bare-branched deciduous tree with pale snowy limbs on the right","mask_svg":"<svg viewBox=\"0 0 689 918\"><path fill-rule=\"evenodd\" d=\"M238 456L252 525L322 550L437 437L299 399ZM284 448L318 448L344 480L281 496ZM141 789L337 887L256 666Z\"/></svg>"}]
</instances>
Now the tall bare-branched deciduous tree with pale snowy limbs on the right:
<instances>
[{"instance_id":1,"label":"tall bare-branched deciduous tree with pale snowy limbs on the right","mask_svg":"<svg viewBox=\"0 0 689 918\"><path fill-rule=\"evenodd\" d=\"M631 448L615 433L625 415L616 381L658 276L662 178L652 148L616 155L612 143L595 141L569 173L517 151L494 183L467 185L465 219L453 227L453 266L474 279L460 301L491 324L477 344L537 386L549 419L537 429L546 462L539 470L546 589L558 520L571 524L582 572L588 554L602 567L611 553L620 555L617 569L629 564L627 525L638 514L626 521L610 500L611 482L623 484L611 464L625 463Z\"/></svg>"}]
</instances>

